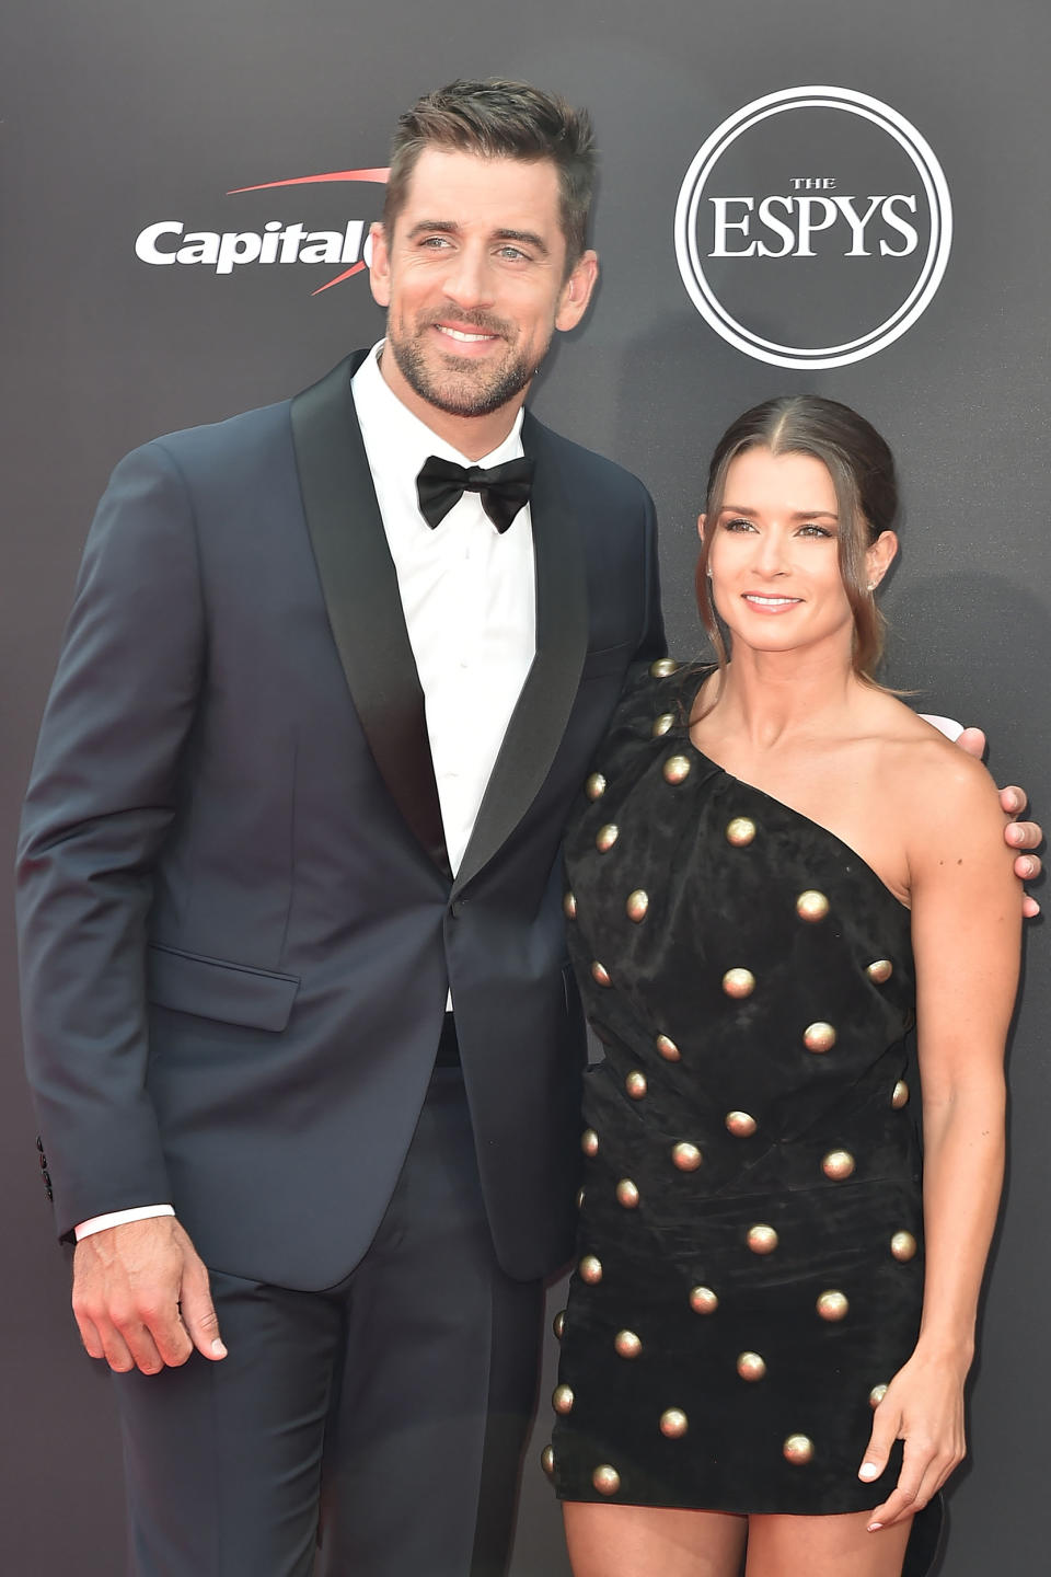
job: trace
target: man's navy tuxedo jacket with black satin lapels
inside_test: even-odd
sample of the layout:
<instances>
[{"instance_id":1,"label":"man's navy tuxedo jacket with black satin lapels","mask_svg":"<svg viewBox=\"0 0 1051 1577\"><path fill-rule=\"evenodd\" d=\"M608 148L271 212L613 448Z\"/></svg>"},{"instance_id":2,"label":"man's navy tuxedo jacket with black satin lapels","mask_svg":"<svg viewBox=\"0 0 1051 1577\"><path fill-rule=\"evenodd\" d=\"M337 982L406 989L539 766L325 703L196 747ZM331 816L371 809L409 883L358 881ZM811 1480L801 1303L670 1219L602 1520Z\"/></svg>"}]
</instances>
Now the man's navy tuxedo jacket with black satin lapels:
<instances>
[{"instance_id":1,"label":"man's navy tuxedo jacket with black satin lapels","mask_svg":"<svg viewBox=\"0 0 1051 1577\"><path fill-rule=\"evenodd\" d=\"M663 650L643 486L526 415L537 653L452 880L350 378L117 467L19 852L25 1050L58 1228L170 1200L216 1269L361 1258L446 987L496 1252L572 1249L583 1023L559 833Z\"/></svg>"}]
</instances>

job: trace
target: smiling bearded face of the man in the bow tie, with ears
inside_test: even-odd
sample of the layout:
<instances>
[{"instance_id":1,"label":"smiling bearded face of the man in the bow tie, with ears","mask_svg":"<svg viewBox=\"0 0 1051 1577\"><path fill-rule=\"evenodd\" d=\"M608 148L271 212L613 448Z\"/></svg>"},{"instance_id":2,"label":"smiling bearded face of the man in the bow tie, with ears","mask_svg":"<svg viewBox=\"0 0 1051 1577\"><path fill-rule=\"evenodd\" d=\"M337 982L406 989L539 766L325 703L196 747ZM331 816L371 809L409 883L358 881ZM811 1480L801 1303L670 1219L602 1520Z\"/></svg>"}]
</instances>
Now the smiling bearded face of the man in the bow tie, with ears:
<instances>
[{"instance_id":1,"label":"smiling bearded face of the man in the bow tie, with ears","mask_svg":"<svg viewBox=\"0 0 1051 1577\"><path fill-rule=\"evenodd\" d=\"M452 418L517 410L596 279L594 252L566 276L547 159L425 148L392 235L375 226L372 244L372 293L388 308L383 374L424 419L421 402Z\"/></svg>"}]
</instances>

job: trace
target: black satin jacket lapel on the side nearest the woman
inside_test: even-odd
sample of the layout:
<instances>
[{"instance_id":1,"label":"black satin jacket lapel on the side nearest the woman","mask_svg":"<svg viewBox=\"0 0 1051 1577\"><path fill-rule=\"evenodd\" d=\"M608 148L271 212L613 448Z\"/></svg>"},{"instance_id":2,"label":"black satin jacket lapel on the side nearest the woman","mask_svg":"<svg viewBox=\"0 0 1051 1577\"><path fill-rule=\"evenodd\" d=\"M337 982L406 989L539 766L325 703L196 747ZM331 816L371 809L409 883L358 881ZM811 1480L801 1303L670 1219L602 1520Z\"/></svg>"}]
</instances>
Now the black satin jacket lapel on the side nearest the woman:
<instances>
[{"instance_id":1,"label":"black satin jacket lapel on the side nearest the woman","mask_svg":"<svg viewBox=\"0 0 1051 1577\"><path fill-rule=\"evenodd\" d=\"M454 891L477 875L533 804L563 741L588 650L588 580L580 527L544 429L529 415L522 443L536 460L529 501L536 658L507 724Z\"/></svg>"}]
</instances>

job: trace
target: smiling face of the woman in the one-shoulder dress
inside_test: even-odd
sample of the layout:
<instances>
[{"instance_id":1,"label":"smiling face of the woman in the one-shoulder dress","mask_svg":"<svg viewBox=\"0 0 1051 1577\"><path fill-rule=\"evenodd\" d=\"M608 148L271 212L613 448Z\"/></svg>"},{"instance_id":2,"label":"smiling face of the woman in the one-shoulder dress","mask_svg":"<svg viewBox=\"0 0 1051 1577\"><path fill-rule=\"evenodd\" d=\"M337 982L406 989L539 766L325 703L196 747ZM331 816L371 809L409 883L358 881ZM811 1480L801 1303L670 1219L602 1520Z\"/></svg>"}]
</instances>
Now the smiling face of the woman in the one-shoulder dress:
<instances>
[{"instance_id":1,"label":"smiling face of the woman in the one-shoulder dress","mask_svg":"<svg viewBox=\"0 0 1051 1577\"><path fill-rule=\"evenodd\" d=\"M849 661L854 617L840 576L838 501L827 467L811 454L745 449L726 472L709 530L712 601L734 643L758 651L841 648ZM884 538L893 536L886 531ZM879 579L879 544L868 579Z\"/></svg>"}]
</instances>

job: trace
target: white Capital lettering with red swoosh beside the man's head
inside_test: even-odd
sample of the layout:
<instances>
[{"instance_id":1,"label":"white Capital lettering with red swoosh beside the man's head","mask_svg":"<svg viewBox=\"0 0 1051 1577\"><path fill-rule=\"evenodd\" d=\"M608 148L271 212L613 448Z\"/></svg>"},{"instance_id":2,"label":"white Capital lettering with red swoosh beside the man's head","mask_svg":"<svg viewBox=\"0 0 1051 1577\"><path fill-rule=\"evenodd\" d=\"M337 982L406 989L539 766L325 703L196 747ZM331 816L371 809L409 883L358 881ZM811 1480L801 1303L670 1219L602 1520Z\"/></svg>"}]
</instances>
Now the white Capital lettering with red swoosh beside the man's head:
<instances>
[{"instance_id":1,"label":"white Capital lettering with red swoosh beside the man's head","mask_svg":"<svg viewBox=\"0 0 1051 1577\"><path fill-rule=\"evenodd\" d=\"M227 197L243 192L274 191L277 186L321 186L328 181L375 181L381 185L391 172L332 170L329 175L295 175L287 181L263 181L260 186L235 186ZM331 290L351 274L359 274L370 262L370 244L364 219L347 219L340 230L310 230L301 221L287 224L284 219L268 219L260 230L188 230L181 219L158 219L136 237L136 257L143 263L165 267L183 263L214 268L217 274L232 274L246 263L350 263L334 279L310 295Z\"/></svg>"}]
</instances>

